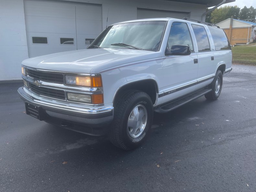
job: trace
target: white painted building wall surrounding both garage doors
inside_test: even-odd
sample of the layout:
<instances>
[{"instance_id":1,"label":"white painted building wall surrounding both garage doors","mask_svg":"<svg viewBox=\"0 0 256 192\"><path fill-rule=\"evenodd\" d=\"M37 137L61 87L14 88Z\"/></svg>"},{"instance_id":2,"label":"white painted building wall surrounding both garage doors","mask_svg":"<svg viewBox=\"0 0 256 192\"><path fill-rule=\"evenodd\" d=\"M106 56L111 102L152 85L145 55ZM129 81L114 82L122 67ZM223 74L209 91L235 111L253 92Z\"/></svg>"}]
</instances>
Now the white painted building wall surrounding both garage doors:
<instances>
[{"instance_id":1,"label":"white painted building wall surrounding both garage doors","mask_svg":"<svg viewBox=\"0 0 256 192\"><path fill-rule=\"evenodd\" d=\"M69 0L70 1L70 0ZM102 5L102 25L137 19L137 8L190 12L201 20L205 5L165 0L72 0ZM21 61L28 58L23 0L0 0L0 81L21 79Z\"/></svg>"}]
</instances>

